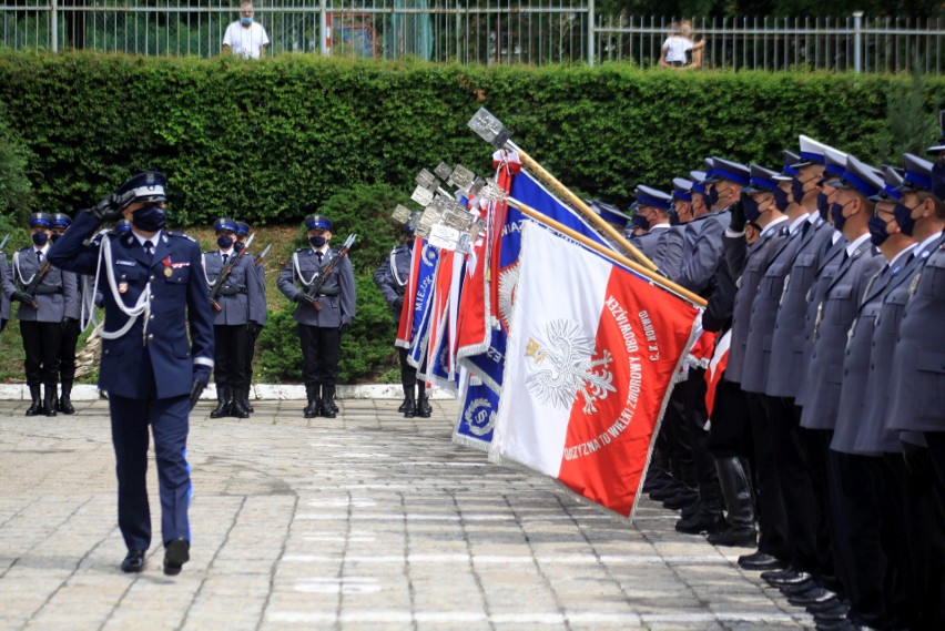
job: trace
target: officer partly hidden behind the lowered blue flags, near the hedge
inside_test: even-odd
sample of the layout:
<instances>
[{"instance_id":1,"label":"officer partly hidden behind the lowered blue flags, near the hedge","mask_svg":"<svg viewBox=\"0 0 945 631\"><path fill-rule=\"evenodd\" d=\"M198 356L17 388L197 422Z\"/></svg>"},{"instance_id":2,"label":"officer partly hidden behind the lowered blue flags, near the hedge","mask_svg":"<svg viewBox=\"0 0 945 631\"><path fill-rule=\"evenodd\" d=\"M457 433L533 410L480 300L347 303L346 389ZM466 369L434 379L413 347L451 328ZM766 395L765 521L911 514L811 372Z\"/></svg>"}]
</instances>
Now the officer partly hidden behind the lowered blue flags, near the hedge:
<instances>
[{"instance_id":1,"label":"officer partly hidden behind the lowered blue flags, near the hedge","mask_svg":"<svg viewBox=\"0 0 945 631\"><path fill-rule=\"evenodd\" d=\"M410 276L410 262L413 259L414 250L414 228L408 224L404 225L404 243L394 247L385 261L377 266L374 272L374 284L380 289L380 294L390 311L394 314L394 325L400 323L400 311L404 306L404 293L407 288L407 281ZM420 396L424 398L424 409L417 409L417 398L415 388L417 386L417 369L407 363L407 348L398 348L397 355L400 358L400 386L404 388L404 403L397 408L404 413L406 418L414 416L429 417L433 414L433 407L426 400L426 384L420 380Z\"/></svg>"}]
</instances>

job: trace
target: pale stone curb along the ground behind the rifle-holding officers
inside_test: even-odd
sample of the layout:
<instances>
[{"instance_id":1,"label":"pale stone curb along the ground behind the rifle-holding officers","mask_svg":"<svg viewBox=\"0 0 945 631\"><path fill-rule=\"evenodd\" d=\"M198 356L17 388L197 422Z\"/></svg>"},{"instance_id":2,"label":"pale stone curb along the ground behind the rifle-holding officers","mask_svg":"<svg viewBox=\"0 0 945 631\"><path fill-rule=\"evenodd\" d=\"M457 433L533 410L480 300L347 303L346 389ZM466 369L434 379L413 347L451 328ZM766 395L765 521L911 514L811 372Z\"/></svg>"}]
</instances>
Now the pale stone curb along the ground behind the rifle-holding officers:
<instances>
[{"instance_id":1,"label":"pale stone curb along the ground behind the rifle-holding officers","mask_svg":"<svg viewBox=\"0 0 945 631\"><path fill-rule=\"evenodd\" d=\"M456 394L445 388L429 390L431 399L454 399ZM92 401L102 398L96 386L77 384L72 388L72 400ZM338 386L337 399L402 399L404 391L399 384L366 384L360 386ZM29 400L30 389L26 384L0 384L0 400ZM216 388L211 385L202 400L215 400ZM250 400L305 400L305 386L256 384L250 388Z\"/></svg>"}]
</instances>

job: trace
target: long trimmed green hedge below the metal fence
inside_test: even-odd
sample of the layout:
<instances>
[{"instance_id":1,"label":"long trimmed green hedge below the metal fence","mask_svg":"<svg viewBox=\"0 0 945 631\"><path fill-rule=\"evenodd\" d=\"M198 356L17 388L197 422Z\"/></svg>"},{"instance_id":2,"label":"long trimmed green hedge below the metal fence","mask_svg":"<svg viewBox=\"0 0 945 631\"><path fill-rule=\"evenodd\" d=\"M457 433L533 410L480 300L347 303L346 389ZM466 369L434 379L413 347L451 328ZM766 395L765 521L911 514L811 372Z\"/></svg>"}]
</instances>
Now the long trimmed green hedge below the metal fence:
<instances>
[{"instance_id":1,"label":"long trimmed green hedge below the metal fence","mask_svg":"<svg viewBox=\"0 0 945 631\"><path fill-rule=\"evenodd\" d=\"M0 54L0 102L34 153L44 207L94 202L161 169L183 225L223 213L293 223L334 192L409 192L439 161L482 171L466 122L486 106L573 189L624 204L701 159L774 165L807 133L881 161L887 94L906 77L479 68L281 55L262 61ZM945 79L927 79L928 111ZM933 140L933 139L928 139ZM925 140L923 140L925 142Z\"/></svg>"}]
</instances>

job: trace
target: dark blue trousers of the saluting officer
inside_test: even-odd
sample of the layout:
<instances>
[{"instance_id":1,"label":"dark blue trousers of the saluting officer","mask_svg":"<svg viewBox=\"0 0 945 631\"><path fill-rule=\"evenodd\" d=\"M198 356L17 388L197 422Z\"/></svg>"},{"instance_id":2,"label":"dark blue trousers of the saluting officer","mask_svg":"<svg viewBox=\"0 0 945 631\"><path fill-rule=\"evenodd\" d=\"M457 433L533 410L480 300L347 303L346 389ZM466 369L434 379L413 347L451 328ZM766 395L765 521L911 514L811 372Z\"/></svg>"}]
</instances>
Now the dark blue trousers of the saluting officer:
<instances>
[{"instance_id":1,"label":"dark blue trousers of the saluting officer","mask_svg":"<svg viewBox=\"0 0 945 631\"><path fill-rule=\"evenodd\" d=\"M112 444L119 481L119 528L129 550L151 547L148 505L148 426L154 434L161 493L163 542L191 539L187 505L191 467L186 460L190 397L131 399L111 395Z\"/></svg>"}]
</instances>

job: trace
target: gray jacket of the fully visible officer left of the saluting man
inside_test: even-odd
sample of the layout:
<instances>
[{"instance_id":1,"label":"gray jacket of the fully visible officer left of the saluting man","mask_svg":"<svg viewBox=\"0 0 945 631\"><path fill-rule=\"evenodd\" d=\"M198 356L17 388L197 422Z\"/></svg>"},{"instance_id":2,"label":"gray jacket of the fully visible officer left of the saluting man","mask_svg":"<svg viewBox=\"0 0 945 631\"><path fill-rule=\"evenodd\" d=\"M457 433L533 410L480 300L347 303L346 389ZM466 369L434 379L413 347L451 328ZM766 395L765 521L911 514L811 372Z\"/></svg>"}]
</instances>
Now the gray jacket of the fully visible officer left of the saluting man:
<instances>
[{"instance_id":1,"label":"gray jacket of the fully visible officer left of the saluting man","mask_svg":"<svg viewBox=\"0 0 945 631\"><path fill-rule=\"evenodd\" d=\"M49 250L47 250L47 253L49 253ZM33 246L28 246L16 252L12 265L10 265L13 284L19 285L20 289L26 288L39 268L40 263L37 259ZM77 286L75 274L63 272L54 265L51 266L37 291L35 301L39 309L21 303L17 312L17 317L29 322L61 323L62 318L67 317L71 311L74 311L79 304ZM12 284L4 289L4 293L7 293L8 298L12 296Z\"/></svg>"}]
</instances>

